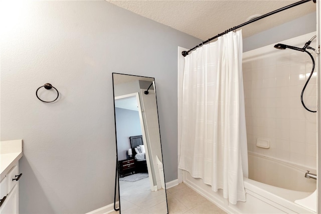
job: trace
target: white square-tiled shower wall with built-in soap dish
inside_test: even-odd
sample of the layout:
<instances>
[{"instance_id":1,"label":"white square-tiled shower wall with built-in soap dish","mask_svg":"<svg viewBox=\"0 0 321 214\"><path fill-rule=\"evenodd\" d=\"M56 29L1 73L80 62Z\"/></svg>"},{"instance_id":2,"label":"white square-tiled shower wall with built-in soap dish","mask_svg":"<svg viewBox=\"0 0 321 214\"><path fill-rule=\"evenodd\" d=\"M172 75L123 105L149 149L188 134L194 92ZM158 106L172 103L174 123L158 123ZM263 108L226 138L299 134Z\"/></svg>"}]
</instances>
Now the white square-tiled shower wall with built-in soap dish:
<instances>
[{"instance_id":1,"label":"white square-tiled shower wall with built-in soap dish","mask_svg":"<svg viewBox=\"0 0 321 214\"><path fill-rule=\"evenodd\" d=\"M280 43L303 47L313 35ZM311 72L311 58L304 52L273 46L243 54L248 151L316 168L316 113L306 111L300 101ZM310 46L315 47L315 42ZM315 68L303 96L313 111L317 108L316 92ZM270 141L270 148L257 147L257 139Z\"/></svg>"}]
</instances>

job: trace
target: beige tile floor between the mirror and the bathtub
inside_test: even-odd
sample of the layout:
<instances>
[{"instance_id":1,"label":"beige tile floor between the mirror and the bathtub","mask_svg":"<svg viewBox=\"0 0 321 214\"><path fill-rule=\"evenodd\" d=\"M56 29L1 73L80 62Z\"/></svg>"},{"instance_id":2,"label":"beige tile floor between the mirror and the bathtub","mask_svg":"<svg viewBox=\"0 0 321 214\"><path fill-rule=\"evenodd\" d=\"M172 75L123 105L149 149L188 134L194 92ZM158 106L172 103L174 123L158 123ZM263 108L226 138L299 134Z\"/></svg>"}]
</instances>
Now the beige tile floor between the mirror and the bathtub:
<instances>
[{"instance_id":1,"label":"beige tile floor between the mirror and the bathtub","mask_svg":"<svg viewBox=\"0 0 321 214\"><path fill-rule=\"evenodd\" d=\"M169 213L226 213L218 206L198 194L184 183L167 190ZM150 207L148 213L157 213L157 205ZM130 210L131 213L146 213ZM141 211L141 210L140 210ZM159 211L159 210L158 210ZM112 214L119 213L111 212Z\"/></svg>"}]
</instances>

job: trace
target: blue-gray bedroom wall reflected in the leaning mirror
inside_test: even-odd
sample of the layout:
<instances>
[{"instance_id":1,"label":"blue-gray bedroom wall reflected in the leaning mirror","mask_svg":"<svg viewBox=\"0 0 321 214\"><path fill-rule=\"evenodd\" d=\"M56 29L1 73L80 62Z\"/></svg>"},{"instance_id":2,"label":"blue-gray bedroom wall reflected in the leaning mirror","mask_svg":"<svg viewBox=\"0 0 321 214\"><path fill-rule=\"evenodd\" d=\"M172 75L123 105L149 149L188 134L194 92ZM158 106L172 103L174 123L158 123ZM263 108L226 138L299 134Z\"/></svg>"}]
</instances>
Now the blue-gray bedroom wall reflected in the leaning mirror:
<instances>
[{"instance_id":1,"label":"blue-gray bedroom wall reflected in the leaning mirror","mask_svg":"<svg viewBox=\"0 0 321 214\"><path fill-rule=\"evenodd\" d=\"M118 160L125 160L126 151L131 148L129 137L141 135L139 114L137 111L115 108L115 115Z\"/></svg>"}]
</instances>

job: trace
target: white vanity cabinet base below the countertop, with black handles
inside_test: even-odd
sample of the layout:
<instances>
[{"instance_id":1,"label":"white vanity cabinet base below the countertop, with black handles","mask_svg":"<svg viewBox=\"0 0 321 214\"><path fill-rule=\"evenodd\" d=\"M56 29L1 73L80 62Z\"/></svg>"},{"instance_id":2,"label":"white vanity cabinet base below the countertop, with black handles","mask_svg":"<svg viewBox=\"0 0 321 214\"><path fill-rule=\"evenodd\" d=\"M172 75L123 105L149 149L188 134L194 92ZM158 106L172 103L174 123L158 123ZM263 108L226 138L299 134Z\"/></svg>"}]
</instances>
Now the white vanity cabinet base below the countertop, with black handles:
<instances>
[{"instance_id":1,"label":"white vanity cabinet base below the countertop, with black handles","mask_svg":"<svg viewBox=\"0 0 321 214\"><path fill-rule=\"evenodd\" d=\"M0 182L1 214L19 213L19 174L18 164L12 167L6 177Z\"/></svg>"}]
</instances>

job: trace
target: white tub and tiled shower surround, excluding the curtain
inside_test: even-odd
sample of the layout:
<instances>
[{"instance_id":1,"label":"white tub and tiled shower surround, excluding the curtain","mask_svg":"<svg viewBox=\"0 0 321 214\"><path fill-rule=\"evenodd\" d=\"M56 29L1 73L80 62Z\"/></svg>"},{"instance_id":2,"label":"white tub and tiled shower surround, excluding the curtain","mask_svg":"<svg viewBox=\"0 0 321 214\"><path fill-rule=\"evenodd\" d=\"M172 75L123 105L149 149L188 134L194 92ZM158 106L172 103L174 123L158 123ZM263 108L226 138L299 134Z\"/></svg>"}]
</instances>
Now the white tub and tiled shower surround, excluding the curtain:
<instances>
[{"instance_id":1,"label":"white tub and tiled shower surround, excluding the curtain","mask_svg":"<svg viewBox=\"0 0 321 214\"><path fill-rule=\"evenodd\" d=\"M315 34L282 43L303 47ZM181 180L232 213L315 213L316 180L304 175L306 170L315 174L317 171L317 114L306 111L300 99L312 69L311 58L300 51L280 51L273 46L243 53L249 158L249 178L244 178L247 201L226 203L222 192L211 191L186 171L182 171ZM316 41L310 46L316 47ZM316 61L318 56L309 51ZM318 70L316 66L304 91L304 103L310 110L318 110ZM269 146L262 148L262 141ZM306 205L304 200L314 204Z\"/></svg>"}]
</instances>

